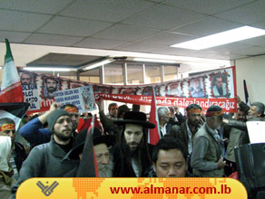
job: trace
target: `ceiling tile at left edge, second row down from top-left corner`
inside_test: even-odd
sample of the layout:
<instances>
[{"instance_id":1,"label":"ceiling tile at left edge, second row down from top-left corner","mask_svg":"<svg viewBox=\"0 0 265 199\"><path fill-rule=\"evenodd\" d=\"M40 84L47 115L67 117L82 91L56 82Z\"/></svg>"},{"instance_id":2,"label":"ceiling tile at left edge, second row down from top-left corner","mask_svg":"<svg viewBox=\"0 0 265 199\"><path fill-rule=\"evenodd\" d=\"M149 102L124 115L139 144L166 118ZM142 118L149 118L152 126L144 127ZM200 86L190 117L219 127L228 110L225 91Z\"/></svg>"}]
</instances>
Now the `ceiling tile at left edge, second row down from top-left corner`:
<instances>
[{"instance_id":1,"label":"ceiling tile at left edge, second row down from top-left corner","mask_svg":"<svg viewBox=\"0 0 265 199\"><path fill-rule=\"evenodd\" d=\"M0 12L0 30L34 32L51 18L47 14L30 14L18 11Z\"/></svg>"}]
</instances>

